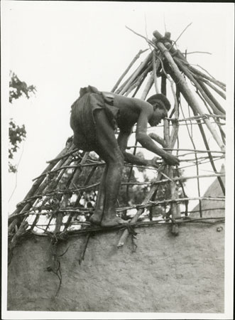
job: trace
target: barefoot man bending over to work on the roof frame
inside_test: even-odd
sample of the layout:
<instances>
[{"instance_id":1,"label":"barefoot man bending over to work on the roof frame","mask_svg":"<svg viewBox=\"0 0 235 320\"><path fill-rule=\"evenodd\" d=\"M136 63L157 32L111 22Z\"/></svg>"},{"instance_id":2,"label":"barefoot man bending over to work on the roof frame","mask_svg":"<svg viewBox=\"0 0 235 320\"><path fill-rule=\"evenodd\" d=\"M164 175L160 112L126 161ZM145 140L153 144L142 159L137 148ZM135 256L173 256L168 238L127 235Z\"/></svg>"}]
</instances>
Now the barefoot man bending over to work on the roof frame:
<instances>
[{"instance_id":1,"label":"barefoot man bending over to work on the roof frame","mask_svg":"<svg viewBox=\"0 0 235 320\"><path fill-rule=\"evenodd\" d=\"M70 126L74 144L84 151L95 151L105 162L91 223L111 227L126 223L116 215L115 205L121 185L124 160L131 164L156 166L152 160L140 159L126 153L133 125L136 140L146 149L161 156L167 164L178 165L176 156L160 149L148 137L147 127L160 123L168 115L170 102L164 95L153 95L147 102L111 92L99 92L95 87L84 87L72 105ZM114 130L119 127L116 139Z\"/></svg>"}]
</instances>

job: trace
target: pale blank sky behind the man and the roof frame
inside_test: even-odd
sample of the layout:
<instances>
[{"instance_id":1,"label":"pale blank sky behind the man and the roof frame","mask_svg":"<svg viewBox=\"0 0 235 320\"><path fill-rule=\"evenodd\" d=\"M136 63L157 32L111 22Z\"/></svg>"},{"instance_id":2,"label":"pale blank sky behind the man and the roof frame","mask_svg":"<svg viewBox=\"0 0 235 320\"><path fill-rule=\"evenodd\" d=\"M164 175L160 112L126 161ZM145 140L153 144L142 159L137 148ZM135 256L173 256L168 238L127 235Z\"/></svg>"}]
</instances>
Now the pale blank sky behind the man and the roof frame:
<instances>
[{"instance_id":1,"label":"pale blank sky behind the man and the roof frame","mask_svg":"<svg viewBox=\"0 0 235 320\"><path fill-rule=\"evenodd\" d=\"M226 82L232 4L1 1L1 6L6 41L2 77L7 79L12 70L37 89L31 99L20 98L9 107L9 89L7 84L4 87L4 119L12 117L18 125L25 124L27 132L15 158L18 173L7 179L9 213L26 196L46 161L55 158L72 136L70 106L80 87L111 90L138 51L148 48L126 26L150 39L154 30L170 31L176 39L192 23L177 41L178 48L212 53L188 55L188 60ZM6 130L7 124L4 122ZM209 143L217 149L213 139ZM208 181L202 183L202 191L207 185ZM192 189L189 186L189 192Z\"/></svg>"}]
</instances>

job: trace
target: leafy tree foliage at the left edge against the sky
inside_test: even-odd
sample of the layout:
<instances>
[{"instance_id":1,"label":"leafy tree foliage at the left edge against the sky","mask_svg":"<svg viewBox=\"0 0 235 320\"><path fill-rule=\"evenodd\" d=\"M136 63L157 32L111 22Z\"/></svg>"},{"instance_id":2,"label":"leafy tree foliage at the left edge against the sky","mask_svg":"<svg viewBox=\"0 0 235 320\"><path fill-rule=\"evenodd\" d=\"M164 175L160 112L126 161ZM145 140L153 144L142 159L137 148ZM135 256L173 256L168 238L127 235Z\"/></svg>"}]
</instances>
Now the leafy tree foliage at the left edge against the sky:
<instances>
[{"instance_id":1,"label":"leafy tree foliage at the left edge against the sky","mask_svg":"<svg viewBox=\"0 0 235 320\"><path fill-rule=\"evenodd\" d=\"M9 82L9 102L12 104L13 100L18 99L21 96L25 96L27 99L35 94L36 88L34 85L27 85L26 82L19 80L17 75L10 72ZM9 172L15 173L17 171L16 165L12 163L13 156L21 144L26 139L26 128L24 124L20 127L10 119L9 122Z\"/></svg>"}]
</instances>

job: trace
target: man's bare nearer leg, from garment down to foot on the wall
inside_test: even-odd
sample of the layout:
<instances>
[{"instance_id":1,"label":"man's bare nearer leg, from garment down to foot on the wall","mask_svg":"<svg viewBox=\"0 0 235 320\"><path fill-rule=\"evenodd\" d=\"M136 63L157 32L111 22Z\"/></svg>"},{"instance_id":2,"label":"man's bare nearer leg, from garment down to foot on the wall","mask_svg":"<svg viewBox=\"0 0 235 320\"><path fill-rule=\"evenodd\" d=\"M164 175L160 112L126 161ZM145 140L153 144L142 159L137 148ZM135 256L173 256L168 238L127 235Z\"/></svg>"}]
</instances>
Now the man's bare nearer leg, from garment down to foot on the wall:
<instances>
[{"instance_id":1,"label":"man's bare nearer leg, from garment down to foot on the wall","mask_svg":"<svg viewBox=\"0 0 235 320\"><path fill-rule=\"evenodd\" d=\"M94 121L97 131L97 144L94 151L106 162L106 176L103 176L104 181L102 181L105 199L102 198L102 195L100 198L104 199L102 226L119 225L120 223L126 223L125 220L116 216L115 210L124 168L124 156L119 149L114 130L109 124L104 110L94 112Z\"/></svg>"}]
</instances>

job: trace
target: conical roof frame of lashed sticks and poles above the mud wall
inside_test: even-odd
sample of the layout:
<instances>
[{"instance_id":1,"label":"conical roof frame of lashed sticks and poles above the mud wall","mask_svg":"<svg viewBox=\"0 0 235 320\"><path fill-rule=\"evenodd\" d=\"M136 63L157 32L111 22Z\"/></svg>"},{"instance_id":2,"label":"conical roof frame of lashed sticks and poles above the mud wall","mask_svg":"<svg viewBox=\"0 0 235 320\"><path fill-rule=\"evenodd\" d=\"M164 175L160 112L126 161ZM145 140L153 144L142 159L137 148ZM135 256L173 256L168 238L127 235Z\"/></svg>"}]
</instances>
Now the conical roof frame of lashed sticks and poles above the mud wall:
<instances>
[{"instance_id":1,"label":"conical roof frame of lashed sticks and poles above the mud wall","mask_svg":"<svg viewBox=\"0 0 235 320\"><path fill-rule=\"evenodd\" d=\"M155 132L151 132L150 137L161 144L165 150L170 152L176 151L177 156L180 157L181 164L194 161L192 166L197 167L197 175L177 176L177 169L167 166L164 162L161 163L159 159L160 166L156 170L158 176L155 178L155 181L151 183L131 182L130 174L129 181L122 182L122 186L126 185L127 188L141 184L151 184L151 188L141 205L118 207L117 214L135 209L137 210L136 215L133 216L133 213L127 215L127 218L131 218L131 223L128 223L131 228L138 225L151 225L151 223L172 223L173 233L177 234L177 225L179 223L196 221L195 219L190 220L190 218L185 220L185 216L187 217L187 214L190 212L185 210L180 213L180 203L186 204L195 199L200 201L200 204L203 199L224 201L224 197L202 197L200 195L200 179L205 176L216 177L225 195L224 183L222 181L224 174L217 171L215 161L223 159L225 156L225 134L222 129L225 120L225 110L222 107L222 102L219 102L218 99L225 99L226 85L214 79L208 73L202 72L202 70L205 71L204 69L201 68L202 70L199 70L199 68L190 65L186 56L180 50L175 49L174 41L170 40L170 33L162 36L158 31L154 31L153 36L152 41L143 37L148 42L151 52L148 53L143 62L134 71L131 71L136 65L137 60L146 51L140 50L111 91L126 96L132 94L131 97L135 97L138 94L141 99L146 100L146 97L150 95L151 90L154 90L154 88L158 92L158 86L160 86L160 92L167 95L169 87L169 95L173 96L174 107L170 117L164 121L164 139L159 137ZM217 97L209 89L213 90ZM183 99L183 103L185 104L186 102L193 115L188 114L186 116L186 112L183 111L182 106ZM190 147L186 149L180 148L178 145L179 127L184 125L187 127L193 149L190 149ZM205 149L198 149L195 145L189 128L190 126L192 128L193 125L199 127ZM218 150L210 150L205 130L209 132L217 146L219 146ZM177 147L175 147L176 143ZM134 152L138 148L140 148L138 144L129 146L129 149L133 149ZM185 153L185 151L189 152ZM183 153L181 154L181 152ZM200 153L207 155L200 157ZM187 154L194 154L194 158L185 159ZM211 164L214 174L199 174L199 166L206 162ZM82 199L84 200L85 192L97 190L99 181L95 183L94 181L92 183L90 181L92 177L94 178L97 168L103 165L103 161L94 159L91 154L76 149L71 139L69 139L65 149L55 159L48 161L45 171L34 179L35 182L31 190L23 201L18 203L16 210L9 216L9 249L12 250L18 239L22 238L23 235L50 235L53 239L52 247L56 256L55 243L58 242L58 239L65 237L65 235L102 232L102 228L93 228L89 225L87 221L88 216L94 209L82 208L81 201ZM134 167L129 164L126 164L126 166L130 166L131 171ZM82 177L83 183L81 183L82 171L85 168L89 168L89 174L87 174L85 179ZM151 170L153 171L153 168ZM183 190L182 180L187 181L190 178L197 179L198 196L187 197ZM177 181L180 181L180 186L177 186ZM157 201L155 200L155 195L158 191L158 186L163 183L168 184L169 195L165 200ZM179 188L183 190L182 198L178 196ZM73 198L75 198L75 201L72 201ZM170 213L167 216L170 220L166 220L165 215L161 214L160 216L163 219L159 220L158 217L158 220L155 221L139 222L139 218L146 210L151 211L150 209L154 206L163 206L164 208L167 205L170 206ZM206 219L203 218L202 212L203 209L200 205L201 218L198 218L197 222ZM84 216L86 221L77 218L81 215ZM42 217L44 217L43 222ZM210 219L213 221L217 220L216 218ZM110 228L110 230L116 230L117 228L124 228L124 233L118 243L118 247L121 247L124 245L131 229L122 225ZM57 240L55 241L55 239ZM84 255L82 255L82 259L83 257Z\"/></svg>"}]
</instances>

